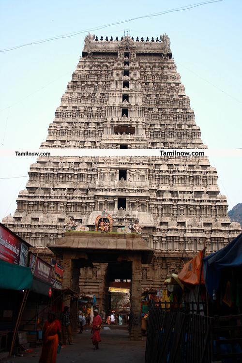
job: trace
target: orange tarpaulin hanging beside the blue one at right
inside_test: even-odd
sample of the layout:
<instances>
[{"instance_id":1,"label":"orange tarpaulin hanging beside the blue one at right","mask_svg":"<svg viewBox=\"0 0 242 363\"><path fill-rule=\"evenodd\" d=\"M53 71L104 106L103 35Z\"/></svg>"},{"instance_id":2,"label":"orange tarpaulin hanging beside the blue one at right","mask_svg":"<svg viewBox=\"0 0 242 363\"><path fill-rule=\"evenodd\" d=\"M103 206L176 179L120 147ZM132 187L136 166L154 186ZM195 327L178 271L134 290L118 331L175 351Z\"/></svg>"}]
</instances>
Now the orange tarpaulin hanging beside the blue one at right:
<instances>
[{"instance_id":1,"label":"orange tarpaulin hanging beside the blue one at right","mask_svg":"<svg viewBox=\"0 0 242 363\"><path fill-rule=\"evenodd\" d=\"M183 284L199 285L200 271L202 266L202 258L204 257L203 251L198 252L197 256L193 257L184 266L181 272L178 274L179 280ZM201 284L204 285L203 269Z\"/></svg>"}]
</instances>

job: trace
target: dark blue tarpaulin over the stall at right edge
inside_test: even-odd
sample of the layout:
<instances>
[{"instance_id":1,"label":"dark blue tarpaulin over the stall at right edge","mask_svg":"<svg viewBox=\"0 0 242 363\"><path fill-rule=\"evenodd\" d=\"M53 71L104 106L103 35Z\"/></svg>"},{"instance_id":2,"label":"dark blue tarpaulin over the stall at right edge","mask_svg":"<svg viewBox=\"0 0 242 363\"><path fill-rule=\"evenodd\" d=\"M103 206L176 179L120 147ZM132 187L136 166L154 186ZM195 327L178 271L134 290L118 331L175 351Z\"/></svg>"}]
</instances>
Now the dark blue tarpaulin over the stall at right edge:
<instances>
[{"instance_id":1,"label":"dark blue tarpaulin over the stall at right edge","mask_svg":"<svg viewBox=\"0 0 242 363\"><path fill-rule=\"evenodd\" d=\"M204 258L204 279L209 295L212 297L219 288L221 270L242 266L242 233L221 250Z\"/></svg>"}]
</instances>

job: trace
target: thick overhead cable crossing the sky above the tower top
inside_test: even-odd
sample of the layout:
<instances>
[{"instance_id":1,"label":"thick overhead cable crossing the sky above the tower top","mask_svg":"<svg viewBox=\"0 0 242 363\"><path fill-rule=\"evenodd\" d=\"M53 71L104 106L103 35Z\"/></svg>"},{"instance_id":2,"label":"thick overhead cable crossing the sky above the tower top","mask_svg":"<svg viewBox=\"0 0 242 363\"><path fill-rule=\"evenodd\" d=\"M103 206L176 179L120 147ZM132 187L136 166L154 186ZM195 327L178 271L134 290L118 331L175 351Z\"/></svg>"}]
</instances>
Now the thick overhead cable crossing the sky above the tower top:
<instances>
[{"instance_id":1,"label":"thick overhead cable crossing the sky above the tower top","mask_svg":"<svg viewBox=\"0 0 242 363\"><path fill-rule=\"evenodd\" d=\"M78 34L86 33L87 31L101 30L101 29L105 29L107 27L111 27L113 25L128 23L129 21L144 19L144 18L147 18L147 17L165 15L165 14L168 14L168 13L174 13L174 12L178 12L178 11L189 10L189 9L192 9L192 8L196 8L198 6L208 5L208 4L212 4L214 2L220 2L220 1L223 1L223 0L203 1L203 2L196 3L196 4L184 5L184 6L181 6L179 8L165 10L165 11L161 11L161 12L153 13L153 14L149 14L149 15L137 16L135 18L130 18L130 19L127 19L127 20L121 20L121 21L117 21L115 23L110 23L110 24L106 24L106 25L100 25L99 27L96 27L96 28L89 28L89 29L85 29L85 30L79 30L79 31L76 31L76 32L73 32L73 33L58 35L58 36L55 36L55 37L52 37L52 38L37 40L35 42L30 42L30 43L26 43L26 44L22 44L22 45L16 45L16 46L13 46L11 48L0 49L0 52L9 52L11 50L22 48L22 47L28 46L28 45L35 45L35 44L50 42L50 41L57 40L57 39L70 38L70 37L76 36Z\"/></svg>"}]
</instances>

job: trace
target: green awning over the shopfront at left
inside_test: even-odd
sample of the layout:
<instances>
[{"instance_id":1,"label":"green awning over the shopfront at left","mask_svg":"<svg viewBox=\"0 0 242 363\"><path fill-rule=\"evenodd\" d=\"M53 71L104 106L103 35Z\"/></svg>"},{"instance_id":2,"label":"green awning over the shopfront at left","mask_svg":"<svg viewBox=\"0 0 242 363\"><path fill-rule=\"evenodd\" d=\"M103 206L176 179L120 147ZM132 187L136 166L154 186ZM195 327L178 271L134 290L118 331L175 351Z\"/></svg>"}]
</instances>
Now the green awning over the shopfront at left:
<instances>
[{"instance_id":1,"label":"green awning over the shopfront at left","mask_svg":"<svg viewBox=\"0 0 242 363\"><path fill-rule=\"evenodd\" d=\"M25 290L32 286L30 267L18 266L0 260L0 288Z\"/></svg>"}]
</instances>

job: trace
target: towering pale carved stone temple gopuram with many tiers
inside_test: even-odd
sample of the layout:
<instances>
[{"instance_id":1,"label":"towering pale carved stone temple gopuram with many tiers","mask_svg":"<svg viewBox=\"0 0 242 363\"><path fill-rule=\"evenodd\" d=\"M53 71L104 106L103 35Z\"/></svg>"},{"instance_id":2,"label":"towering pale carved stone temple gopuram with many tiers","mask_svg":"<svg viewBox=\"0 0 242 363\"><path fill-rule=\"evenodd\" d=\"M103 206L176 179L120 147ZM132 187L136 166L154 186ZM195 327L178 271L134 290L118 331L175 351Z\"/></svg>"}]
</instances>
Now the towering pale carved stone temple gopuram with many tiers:
<instances>
[{"instance_id":1,"label":"towering pale carved stone temple gopuram with many tiers","mask_svg":"<svg viewBox=\"0 0 242 363\"><path fill-rule=\"evenodd\" d=\"M206 148L167 35L156 41L87 35L42 147ZM105 209L114 226L138 218L156 250L143 266L144 288L160 287L204 244L213 252L241 232L227 216L207 157L40 157L29 176L14 216L3 223L37 247L61 237L69 217L90 229ZM81 291L98 296L105 271L103 264L83 270Z\"/></svg>"}]
</instances>

